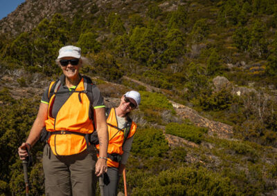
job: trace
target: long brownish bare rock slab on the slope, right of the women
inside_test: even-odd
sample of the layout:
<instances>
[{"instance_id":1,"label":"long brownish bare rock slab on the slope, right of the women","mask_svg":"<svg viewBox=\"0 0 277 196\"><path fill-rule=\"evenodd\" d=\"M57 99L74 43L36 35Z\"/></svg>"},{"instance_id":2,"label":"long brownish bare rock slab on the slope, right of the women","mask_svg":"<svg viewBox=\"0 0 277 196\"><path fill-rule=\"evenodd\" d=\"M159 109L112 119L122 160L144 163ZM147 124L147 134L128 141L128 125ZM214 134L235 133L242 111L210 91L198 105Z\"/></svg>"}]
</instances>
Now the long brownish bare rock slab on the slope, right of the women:
<instances>
[{"instance_id":1,"label":"long brownish bare rock slab on the slope, right of the women","mask_svg":"<svg viewBox=\"0 0 277 196\"><path fill-rule=\"evenodd\" d=\"M202 126L208 128L208 135L216 136L222 139L230 139L233 136L233 127L227 124L212 121L202 117L197 111L187 106L177 104L171 101L172 106L175 108L178 115L184 119L189 119L196 126Z\"/></svg>"}]
</instances>

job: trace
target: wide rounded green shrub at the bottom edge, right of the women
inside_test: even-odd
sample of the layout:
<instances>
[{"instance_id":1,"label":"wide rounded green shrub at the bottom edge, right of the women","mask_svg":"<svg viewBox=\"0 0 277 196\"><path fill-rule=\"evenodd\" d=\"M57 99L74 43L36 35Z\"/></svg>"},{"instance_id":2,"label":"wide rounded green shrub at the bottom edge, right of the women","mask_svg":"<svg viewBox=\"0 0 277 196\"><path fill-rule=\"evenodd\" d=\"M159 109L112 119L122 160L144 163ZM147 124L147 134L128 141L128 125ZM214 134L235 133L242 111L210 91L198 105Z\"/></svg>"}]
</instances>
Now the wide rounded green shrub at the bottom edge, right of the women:
<instances>
[{"instance_id":1,"label":"wide rounded green shrub at the bottom edge, right of the women","mask_svg":"<svg viewBox=\"0 0 277 196\"><path fill-rule=\"evenodd\" d=\"M228 177L206 168L180 167L143 181L132 195L240 195Z\"/></svg>"}]
</instances>

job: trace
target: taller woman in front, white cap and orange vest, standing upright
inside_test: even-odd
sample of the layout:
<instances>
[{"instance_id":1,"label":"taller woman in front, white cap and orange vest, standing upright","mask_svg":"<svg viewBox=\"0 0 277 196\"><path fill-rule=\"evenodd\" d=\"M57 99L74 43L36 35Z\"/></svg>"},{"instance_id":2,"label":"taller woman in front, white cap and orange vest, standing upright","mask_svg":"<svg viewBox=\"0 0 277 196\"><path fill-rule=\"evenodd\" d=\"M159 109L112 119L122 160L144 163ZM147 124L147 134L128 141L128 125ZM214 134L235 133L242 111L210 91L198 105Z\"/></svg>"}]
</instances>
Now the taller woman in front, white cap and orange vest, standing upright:
<instances>
[{"instance_id":1,"label":"taller woman in front, white cap and orange vest, standing upright","mask_svg":"<svg viewBox=\"0 0 277 196\"><path fill-rule=\"evenodd\" d=\"M20 159L44 134L43 167L46 195L95 195L97 176L107 171L107 124L100 90L80 75L81 49L64 46L56 60L62 76L44 91L37 118ZM96 129L97 128L97 129ZM99 156L89 140L98 133Z\"/></svg>"}]
</instances>

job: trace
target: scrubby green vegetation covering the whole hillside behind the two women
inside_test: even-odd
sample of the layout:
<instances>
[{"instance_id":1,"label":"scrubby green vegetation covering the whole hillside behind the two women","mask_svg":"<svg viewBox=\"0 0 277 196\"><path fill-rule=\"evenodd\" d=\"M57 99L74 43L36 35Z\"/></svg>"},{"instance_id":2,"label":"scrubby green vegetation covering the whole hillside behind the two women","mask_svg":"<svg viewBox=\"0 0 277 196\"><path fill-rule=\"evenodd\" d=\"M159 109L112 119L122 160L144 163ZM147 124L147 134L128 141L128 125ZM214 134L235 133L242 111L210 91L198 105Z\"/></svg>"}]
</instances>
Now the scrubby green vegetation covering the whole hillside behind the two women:
<instances>
[{"instance_id":1,"label":"scrubby green vegetation covering the whole hillside behind the two women","mask_svg":"<svg viewBox=\"0 0 277 196\"><path fill-rule=\"evenodd\" d=\"M71 6L78 3L85 1ZM141 106L134 112L139 129L127 164L130 194L276 194L276 1L99 5L93 3L85 14L78 10L71 17L60 8L30 32L1 34L1 77L13 75L17 86L12 88L24 89L32 84L31 77L12 74L22 68L54 79L61 73L55 65L58 50L80 46L87 57L82 73L98 77L102 95L141 92ZM160 89L149 90L123 76ZM226 88L217 89L217 76L229 80ZM14 99L14 89L3 86L7 85L0 86L0 195L23 195L17 148L33 124L40 95ZM180 119L169 100L233 126L233 138L213 137L206 128ZM198 147L169 146L163 133ZM42 146L38 143L32 150L32 195L44 193Z\"/></svg>"}]
</instances>

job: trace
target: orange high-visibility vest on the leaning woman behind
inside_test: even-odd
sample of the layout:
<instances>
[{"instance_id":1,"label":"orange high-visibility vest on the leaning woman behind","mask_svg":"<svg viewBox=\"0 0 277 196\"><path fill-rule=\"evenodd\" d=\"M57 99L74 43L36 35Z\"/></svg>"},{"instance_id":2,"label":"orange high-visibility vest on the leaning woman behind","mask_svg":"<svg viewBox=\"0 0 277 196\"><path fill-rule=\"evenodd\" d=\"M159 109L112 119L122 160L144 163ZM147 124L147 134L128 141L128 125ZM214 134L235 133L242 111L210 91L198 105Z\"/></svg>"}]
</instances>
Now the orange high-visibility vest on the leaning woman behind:
<instances>
[{"instance_id":1,"label":"orange high-visibility vest on the leaning woman behind","mask_svg":"<svg viewBox=\"0 0 277 196\"><path fill-rule=\"evenodd\" d=\"M107 124L108 124L108 135L109 135L109 145L108 145L108 160L107 160L107 166L108 167L116 167L119 166L119 161L113 161L109 155L122 155L123 150L122 146L124 144L124 133L126 128L123 128L123 130L118 130L118 123L116 119L116 112L115 108L111 108L111 111L109 112L109 116L107 117ZM134 121L132 121L129 135L127 135L127 138L132 137L136 133L136 124ZM99 149L99 144L96 145L96 148Z\"/></svg>"}]
</instances>

